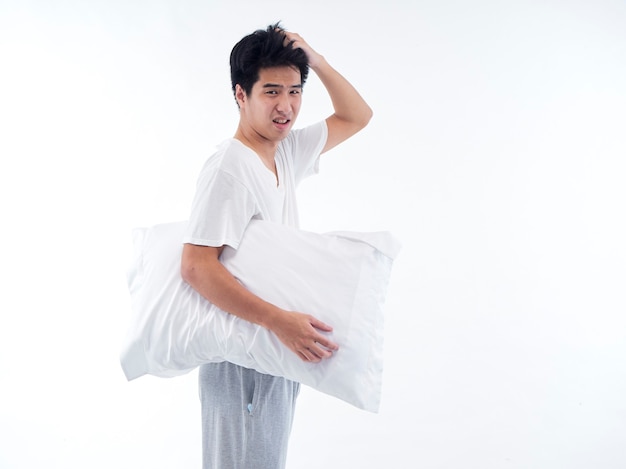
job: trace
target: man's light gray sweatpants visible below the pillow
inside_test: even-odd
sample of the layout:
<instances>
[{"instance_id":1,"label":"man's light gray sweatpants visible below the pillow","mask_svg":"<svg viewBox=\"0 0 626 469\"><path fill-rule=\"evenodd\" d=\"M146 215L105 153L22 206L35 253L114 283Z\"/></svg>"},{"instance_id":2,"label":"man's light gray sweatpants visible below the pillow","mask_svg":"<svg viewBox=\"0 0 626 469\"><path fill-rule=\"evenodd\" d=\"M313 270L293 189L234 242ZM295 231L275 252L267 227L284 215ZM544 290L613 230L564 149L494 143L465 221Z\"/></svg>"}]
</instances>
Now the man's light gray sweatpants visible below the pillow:
<instances>
[{"instance_id":1,"label":"man's light gray sweatpants visible below the pillow","mask_svg":"<svg viewBox=\"0 0 626 469\"><path fill-rule=\"evenodd\" d=\"M203 469L281 469L300 384L232 363L202 365Z\"/></svg>"}]
</instances>

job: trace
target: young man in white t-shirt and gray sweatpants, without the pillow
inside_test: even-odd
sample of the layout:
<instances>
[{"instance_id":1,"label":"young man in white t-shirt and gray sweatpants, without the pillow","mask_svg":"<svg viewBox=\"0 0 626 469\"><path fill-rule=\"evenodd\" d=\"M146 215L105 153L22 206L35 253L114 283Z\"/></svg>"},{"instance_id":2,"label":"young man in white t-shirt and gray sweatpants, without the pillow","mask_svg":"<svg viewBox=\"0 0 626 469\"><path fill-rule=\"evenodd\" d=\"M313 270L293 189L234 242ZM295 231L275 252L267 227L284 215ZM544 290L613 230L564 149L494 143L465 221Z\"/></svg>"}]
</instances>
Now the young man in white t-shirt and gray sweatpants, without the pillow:
<instances>
[{"instance_id":1,"label":"young man in white t-shirt and gray sweatpants, without the pillow","mask_svg":"<svg viewBox=\"0 0 626 469\"><path fill-rule=\"evenodd\" d=\"M338 345L315 311L285 311L247 291L222 266L253 218L297 226L297 184L317 172L321 153L361 130L372 111L298 34L278 25L235 45L230 57L239 106L234 138L206 162L185 237L183 278L220 309L271 330L302 360L331 359ZM334 108L325 121L292 130L309 67ZM282 468L299 384L231 363L199 372L204 469Z\"/></svg>"}]
</instances>

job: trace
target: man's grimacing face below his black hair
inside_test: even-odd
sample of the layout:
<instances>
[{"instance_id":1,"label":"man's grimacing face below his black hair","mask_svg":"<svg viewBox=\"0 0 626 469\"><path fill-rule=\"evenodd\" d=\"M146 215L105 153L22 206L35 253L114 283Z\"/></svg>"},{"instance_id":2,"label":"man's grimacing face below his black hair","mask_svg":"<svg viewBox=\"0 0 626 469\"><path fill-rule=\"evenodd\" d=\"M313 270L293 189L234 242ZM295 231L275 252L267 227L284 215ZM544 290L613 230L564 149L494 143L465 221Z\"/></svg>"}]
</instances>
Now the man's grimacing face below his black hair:
<instances>
[{"instance_id":1,"label":"man's grimacing face below his black hair","mask_svg":"<svg viewBox=\"0 0 626 469\"><path fill-rule=\"evenodd\" d=\"M263 68L249 95L238 87L241 123L257 138L279 142L284 139L300 112L300 72L291 67Z\"/></svg>"}]
</instances>

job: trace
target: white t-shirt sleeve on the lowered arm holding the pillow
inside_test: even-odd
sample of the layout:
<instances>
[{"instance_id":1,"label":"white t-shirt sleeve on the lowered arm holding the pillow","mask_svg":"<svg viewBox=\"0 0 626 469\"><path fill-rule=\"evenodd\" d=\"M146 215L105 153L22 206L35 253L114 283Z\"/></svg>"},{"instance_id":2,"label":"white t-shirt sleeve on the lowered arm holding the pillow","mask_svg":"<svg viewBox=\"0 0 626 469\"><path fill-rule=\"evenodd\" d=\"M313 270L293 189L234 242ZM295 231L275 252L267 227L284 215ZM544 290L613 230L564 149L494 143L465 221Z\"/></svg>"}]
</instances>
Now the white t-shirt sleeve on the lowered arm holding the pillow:
<instances>
[{"instance_id":1,"label":"white t-shirt sleeve on the lowered arm holding the pillow","mask_svg":"<svg viewBox=\"0 0 626 469\"><path fill-rule=\"evenodd\" d=\"M237 249L256 206L254 196L235 177L220 169L204 168L183 242Z\"/></svg>"}]
</instances>

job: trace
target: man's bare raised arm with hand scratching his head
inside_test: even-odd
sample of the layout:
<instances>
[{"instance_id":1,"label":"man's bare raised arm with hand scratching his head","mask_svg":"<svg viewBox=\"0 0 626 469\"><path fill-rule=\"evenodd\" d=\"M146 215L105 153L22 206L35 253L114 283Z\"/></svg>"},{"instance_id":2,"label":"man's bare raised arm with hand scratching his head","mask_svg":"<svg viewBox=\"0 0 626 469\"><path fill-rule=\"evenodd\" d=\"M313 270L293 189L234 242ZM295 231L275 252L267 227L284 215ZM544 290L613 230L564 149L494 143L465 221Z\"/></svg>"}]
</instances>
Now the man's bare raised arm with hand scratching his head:
<instances>
[{"instance_id":1,"label":"man's bare raised arm with hand scratching his head","mask_svg":"<svg viewBox=\"0 0 626 469\"><path fill-rule=\"evenodd\" d=\"M372 109L350 82L300 35L285 31L285 41L306 53L309 67L319 77L332 101L334 113L326 119L328 139L322 150L322 153L327 152L364 128L372 118Z\"/></svg>"}]
</instances>

